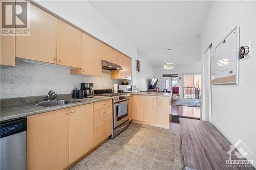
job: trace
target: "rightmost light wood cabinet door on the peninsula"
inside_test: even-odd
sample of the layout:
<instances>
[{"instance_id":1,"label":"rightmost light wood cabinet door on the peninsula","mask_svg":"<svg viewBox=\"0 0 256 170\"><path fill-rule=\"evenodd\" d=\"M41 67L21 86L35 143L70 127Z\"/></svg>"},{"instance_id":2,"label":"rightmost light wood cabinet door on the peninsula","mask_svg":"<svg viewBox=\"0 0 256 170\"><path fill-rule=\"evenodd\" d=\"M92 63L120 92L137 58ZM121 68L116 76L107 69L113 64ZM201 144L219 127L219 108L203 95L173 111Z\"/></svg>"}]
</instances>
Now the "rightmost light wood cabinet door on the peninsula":
<instances>
[{"instance_id":1,"label":"rightmost light wood cabinet door on the peninsula","mask_svg":"<svg viewBox=\"0 0 256 170\"><path fill-rule=\"evenodd\" d=\"M170 98L168 96L157 96L156 123L169 125Z\"/></svg>"}]
</instances>

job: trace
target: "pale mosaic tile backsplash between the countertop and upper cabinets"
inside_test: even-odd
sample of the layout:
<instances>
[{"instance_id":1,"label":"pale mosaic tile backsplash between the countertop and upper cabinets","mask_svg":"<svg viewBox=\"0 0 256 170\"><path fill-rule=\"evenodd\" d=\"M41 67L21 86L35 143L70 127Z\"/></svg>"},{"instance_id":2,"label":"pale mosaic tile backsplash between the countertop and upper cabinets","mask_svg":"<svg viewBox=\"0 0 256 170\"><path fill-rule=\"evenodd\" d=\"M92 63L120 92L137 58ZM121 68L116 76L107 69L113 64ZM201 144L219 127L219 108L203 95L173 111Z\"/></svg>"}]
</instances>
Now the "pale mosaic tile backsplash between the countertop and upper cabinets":
<instances>
[{"instance_id":1,"label":"pale mosaic tile backsplash between the countertop and upper cabinets","mask_svg":"<svg viewBox=\"0 0 256 170\"><path fill-rule=\"evenodd\" d=\"M49 90L58 94L72 93L80 83L94 83L94 88L113 88L110 72L101 77L70 75L70 69L27 62L16 62L15 67L1 68L1 99L24 96L46 95Z\"/></svg>"}]
</instances>

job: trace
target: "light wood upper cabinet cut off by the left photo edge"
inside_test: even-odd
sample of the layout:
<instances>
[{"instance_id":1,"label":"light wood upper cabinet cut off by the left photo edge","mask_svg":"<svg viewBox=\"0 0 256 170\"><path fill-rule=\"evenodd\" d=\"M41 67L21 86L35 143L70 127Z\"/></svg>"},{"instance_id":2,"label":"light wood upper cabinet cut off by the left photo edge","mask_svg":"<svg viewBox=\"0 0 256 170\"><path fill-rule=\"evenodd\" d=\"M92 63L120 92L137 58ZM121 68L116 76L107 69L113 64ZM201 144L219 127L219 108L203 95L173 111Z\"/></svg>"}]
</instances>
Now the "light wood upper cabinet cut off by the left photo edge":
<instances>
[{"instance_id":1,"label":"light wood upper cabinet cut off by the left photo edge","mask_svg":"<svg viewBox=\"0 0 256 170\"><path fill-rule=\"evenodd\" d=\"M0 36L1 56L0 65L15 66L15 36Z\"/></svg>"}]
</instances>

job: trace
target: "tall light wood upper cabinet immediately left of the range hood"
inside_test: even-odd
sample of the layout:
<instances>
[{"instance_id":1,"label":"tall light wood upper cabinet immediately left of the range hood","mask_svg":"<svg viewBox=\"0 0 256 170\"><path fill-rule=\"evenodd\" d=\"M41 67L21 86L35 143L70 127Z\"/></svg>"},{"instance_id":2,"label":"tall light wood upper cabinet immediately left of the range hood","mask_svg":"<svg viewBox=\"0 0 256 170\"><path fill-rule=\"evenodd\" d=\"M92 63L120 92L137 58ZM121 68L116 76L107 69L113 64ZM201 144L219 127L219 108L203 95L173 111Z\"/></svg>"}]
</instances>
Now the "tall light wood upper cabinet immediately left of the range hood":
<instances>
[{"instance_id":1,"label":"tall light wood upper cabinet immediately left of the range hood","mask_svg":"<svg viewBox=\"0 0 256 170\"><path fill-rule=\"evenodd\" d=\"M72 75L101 76L102 43L82 33L82 68L72 69Z\"/></svg>"}]
</instances>

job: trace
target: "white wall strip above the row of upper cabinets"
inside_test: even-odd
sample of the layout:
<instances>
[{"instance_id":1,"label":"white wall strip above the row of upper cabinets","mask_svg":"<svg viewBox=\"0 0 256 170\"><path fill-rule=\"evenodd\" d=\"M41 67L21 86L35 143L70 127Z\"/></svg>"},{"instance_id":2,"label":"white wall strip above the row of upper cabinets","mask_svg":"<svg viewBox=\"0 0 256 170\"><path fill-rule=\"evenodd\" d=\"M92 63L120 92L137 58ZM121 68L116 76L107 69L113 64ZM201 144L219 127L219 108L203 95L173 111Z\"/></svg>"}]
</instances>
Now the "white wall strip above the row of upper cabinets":
<instances>
[{"instance_id":1,"label":"white wall strip above the row of upper cabinets","mask_svg":"<svg viewBox=\"0 0 256 170\"><path fill-rule=\"evenodd\" d=\"M87 1L35 1L53 13L72 22L89 34L132 58L132 84L136 84L137 46L117 30Z\"/></svg>"}]
</instances>

